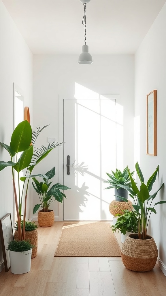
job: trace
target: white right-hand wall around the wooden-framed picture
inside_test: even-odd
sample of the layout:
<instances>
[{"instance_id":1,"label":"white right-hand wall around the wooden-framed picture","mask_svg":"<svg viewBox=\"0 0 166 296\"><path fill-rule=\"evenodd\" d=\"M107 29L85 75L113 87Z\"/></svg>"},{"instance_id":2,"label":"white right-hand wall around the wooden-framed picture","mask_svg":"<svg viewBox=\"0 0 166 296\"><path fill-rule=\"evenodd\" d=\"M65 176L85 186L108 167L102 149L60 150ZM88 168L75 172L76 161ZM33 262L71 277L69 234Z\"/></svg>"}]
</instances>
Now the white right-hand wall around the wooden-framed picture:
<instances>
[{"instance_id":1,"label":"white right-hand wall around the wooden-framed picture","mask_svg":"<svg viewBox=\"0 0 166 296\"><path fill-rule=\"evenodd\" d=\"M163 181L166 181L166 4L154 21L147 36L135 54L135 116L140 117L140 167L147 179L160 164L159 178L154 185L154 193ZM157 89L157 156L146 154L146 96ZM166 200L165 190L156 197L156 201ZM166 275L166 205L157 205L157 215L151 215L149 234L154 237L159 258L165 267Z\"/></svg>"}]
</instances>

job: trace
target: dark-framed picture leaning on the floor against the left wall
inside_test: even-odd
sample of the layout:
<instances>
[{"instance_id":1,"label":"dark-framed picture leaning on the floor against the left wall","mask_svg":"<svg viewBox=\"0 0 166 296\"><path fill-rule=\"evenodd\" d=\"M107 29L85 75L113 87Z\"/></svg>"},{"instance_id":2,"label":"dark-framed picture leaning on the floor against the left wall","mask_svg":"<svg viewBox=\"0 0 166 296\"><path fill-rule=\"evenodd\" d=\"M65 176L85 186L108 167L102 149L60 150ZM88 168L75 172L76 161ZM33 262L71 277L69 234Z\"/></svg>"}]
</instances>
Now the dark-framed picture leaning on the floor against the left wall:
<instances>
[{"instance_id":1,"label":"dark-framed picture leaning on the floor against the left wall","mask_svg":"<svg viewBox=\"0 0 166 296\"><path fill-rule=\"evenodd\" d=\"M1 237L1 244L2 244L2 252L4 257L4 266L5 266L5 271L7 272L9 271L9 268L10 268L10 258L9 258L9 251L6 250L6 247L10 240L14 240L12 220L11 220L10 214L7 214L0 219L0 237Z\"/></svg>"}]
</instances>

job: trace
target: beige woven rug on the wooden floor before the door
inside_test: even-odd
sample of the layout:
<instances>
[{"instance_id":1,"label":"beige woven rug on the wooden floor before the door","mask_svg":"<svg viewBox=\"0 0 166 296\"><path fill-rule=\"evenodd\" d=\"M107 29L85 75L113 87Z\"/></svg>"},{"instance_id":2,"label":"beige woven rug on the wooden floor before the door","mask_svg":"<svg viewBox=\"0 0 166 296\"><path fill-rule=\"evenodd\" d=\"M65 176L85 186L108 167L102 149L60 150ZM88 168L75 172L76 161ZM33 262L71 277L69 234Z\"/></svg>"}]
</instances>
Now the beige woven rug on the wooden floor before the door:
<instances>
[{"instance_id":1,"label":"beige woven rug on the wooden floor before the door","mask_svg":"<svg viewBox=\"0 0 166 296\"><path fill-rule=\"evenodd\" d=\"M64 223L58 257L121 257L121 250L110 223Z\"/></svg>"}]
</instances>

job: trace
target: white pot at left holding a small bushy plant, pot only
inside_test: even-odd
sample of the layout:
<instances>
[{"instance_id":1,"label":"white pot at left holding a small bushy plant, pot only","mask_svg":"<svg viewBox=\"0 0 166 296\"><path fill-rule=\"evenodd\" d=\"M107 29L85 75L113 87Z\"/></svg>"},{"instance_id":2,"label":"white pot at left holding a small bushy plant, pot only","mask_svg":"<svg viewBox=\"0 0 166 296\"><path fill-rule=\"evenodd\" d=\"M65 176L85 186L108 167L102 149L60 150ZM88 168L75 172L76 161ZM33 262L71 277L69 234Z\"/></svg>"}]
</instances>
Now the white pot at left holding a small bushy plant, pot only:
<instances>
[{"instance_id":1,"label":"white pot at left holding a small bushy plant, pot only","mask_svg":"<svg viewBox=\"0 0 166 296\"><path fill-rule=\"evenodd\" d=\"M12 274L25 274L30 271L32 249L25 252L9 250L10 266Z\"/></svg>"}]
</instances>

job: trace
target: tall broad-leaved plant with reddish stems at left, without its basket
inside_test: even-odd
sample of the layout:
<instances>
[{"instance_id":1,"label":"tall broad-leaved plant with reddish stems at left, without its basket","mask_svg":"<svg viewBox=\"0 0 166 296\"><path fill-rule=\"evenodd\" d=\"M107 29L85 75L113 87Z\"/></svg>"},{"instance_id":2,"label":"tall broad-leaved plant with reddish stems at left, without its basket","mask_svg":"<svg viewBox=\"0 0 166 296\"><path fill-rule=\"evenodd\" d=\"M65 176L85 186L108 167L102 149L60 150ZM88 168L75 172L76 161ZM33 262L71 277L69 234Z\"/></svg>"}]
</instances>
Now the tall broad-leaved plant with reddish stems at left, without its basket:
<instances>
[{"instance_id":1,"label":"tall broad-leaved plant with reddish stems at left, without its basket","mask_svg":"<svg viewBox=\"0 0 166 296\"><path fill-rule=\"evenodd\" d=\"M46 127L46 126L45 126ZM43 127L43 128L45 128ZM26 170L26 174L29 171L31 175L33 168L43 160L48 153L51 152L55 147L59 146L62 143L53 142L51 145L49 144L48 147L40 147L40 148L33 148L32 143L35 143L35 140L39 133L43 130L40 127L37 128L37 131L32 132L32 128L27 120L24 120L18 124L18 126L14 129L11 137L10 146L0 142L0 145L9 152L10 159L7 162L0 161L0 171L4 168L11 166L12 168L12 181L13 181L13 188L14 188L14 198L15 198L15 206L17 212L17 223L18 223L18 239L25 240L25 217L26 217L26 205L27 205L27 191L29 185L29 179L25 187L25 180L23 180L23 188L22 191L20 189L20 176L19 173L23 169ZM20 152L22 152L21 156L19 157ZM14 159L13 159L14 157ZM18 180L18 202L17 202L17 191L15 185L15 176L14 170L16 171L16 177ZM24 194L25 192L25 194ZM21 228L21 213L22 213L22 203L24 200L24 219L23 219L23 229Z\"/></svg>"}]
</instances>

